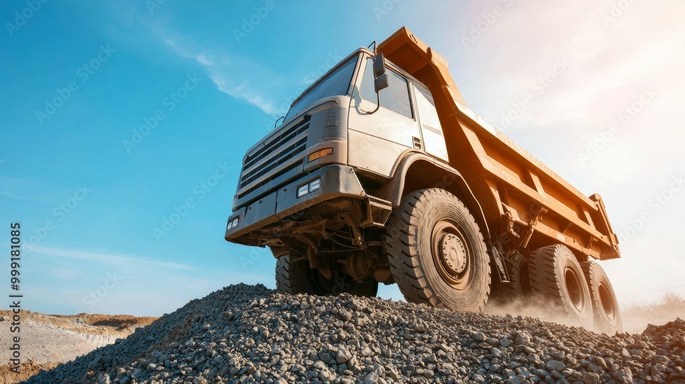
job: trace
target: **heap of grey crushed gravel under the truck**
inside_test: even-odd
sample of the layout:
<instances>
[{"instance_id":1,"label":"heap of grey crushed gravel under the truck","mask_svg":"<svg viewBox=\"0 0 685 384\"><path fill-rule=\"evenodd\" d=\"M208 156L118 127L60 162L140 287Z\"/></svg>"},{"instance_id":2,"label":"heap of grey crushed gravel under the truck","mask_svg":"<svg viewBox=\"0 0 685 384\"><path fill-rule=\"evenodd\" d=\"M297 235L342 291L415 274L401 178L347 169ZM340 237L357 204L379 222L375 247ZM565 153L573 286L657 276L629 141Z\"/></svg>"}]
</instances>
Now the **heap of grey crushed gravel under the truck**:
<instances>
[{"instance_id":1,"label":"heap of grey crushed gravel under the truck","mask_svg":"<svg viewBox=\"0 0 685 384\"><path fill-rule=\"evenodd\" d=\"M684 335L240 284L26 383L685 383Z\"/></svg>"}]
</instances>

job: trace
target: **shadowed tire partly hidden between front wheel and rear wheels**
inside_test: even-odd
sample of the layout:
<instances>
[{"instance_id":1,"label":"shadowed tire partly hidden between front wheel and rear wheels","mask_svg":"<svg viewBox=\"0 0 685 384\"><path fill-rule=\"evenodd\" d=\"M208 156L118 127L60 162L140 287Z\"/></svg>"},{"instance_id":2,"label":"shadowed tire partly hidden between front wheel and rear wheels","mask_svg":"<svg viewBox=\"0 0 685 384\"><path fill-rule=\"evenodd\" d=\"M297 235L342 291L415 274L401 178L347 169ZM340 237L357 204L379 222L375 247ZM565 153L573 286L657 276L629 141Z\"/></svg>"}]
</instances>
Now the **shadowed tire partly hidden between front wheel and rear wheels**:
<instances>
[{"instance_id":1,"label":"shadowed tire partly hidden between front wheel and rear wheels","mask_svg":"<svg viewBox=\"0 0 685 384\"><path fill-rule=\"evenodd\" d=\"M490 292L490 303L495 305L524 305L530 298L530 281L528 280L528 261L521 255L507 259L504 264L509 272L509 283L500 283L493 279L493 292Z\"/></svg>"}]
</instances>

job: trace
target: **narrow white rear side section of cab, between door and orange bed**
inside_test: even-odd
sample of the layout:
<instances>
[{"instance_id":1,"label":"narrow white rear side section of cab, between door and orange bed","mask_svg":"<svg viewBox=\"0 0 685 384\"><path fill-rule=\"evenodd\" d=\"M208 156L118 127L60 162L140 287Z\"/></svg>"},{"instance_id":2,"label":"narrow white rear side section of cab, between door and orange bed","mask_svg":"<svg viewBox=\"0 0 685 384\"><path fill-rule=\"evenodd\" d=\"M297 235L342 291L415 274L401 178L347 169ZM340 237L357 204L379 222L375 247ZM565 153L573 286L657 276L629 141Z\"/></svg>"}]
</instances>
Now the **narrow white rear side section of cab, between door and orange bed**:
<instances>
[{"instance_id":1,"label":"narrow white rear side section of cab, between door and orange bed","mask_svg":"<svg viewBox=\"0 0 685 384\"><path fill-rule=\"evenodd\" d=\"M413 83L412 85L416 99L416 110L419 112L421 133L423 133L424 150L429 155L447 162L447 144L445 144L443 127L440 125L433 96L429 90L420 84Z\"/></svg>"}]
</instances>

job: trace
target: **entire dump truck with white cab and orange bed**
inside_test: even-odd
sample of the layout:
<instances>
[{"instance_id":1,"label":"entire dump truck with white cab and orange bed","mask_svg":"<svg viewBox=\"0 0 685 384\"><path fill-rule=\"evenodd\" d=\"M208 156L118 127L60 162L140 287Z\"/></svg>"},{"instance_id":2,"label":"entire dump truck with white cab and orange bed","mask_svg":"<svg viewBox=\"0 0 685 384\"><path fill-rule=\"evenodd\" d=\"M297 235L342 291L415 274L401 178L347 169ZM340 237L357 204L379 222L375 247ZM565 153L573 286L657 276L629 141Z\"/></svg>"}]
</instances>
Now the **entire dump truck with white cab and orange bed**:
<instances>
[{"instance_id":1,"label":"entire dump truck with white cab and orange bed","mask_svg":"<svg viewBox=\"0 0 685 384\"><path fill-rule=\"evenodd\" d=\"M277 289L457 311L536 300L621 331L597 261L620 257L585 196L466 106L447 61L402 27L305 90L247 150L225 239L268 246Z\"/></svg>"}]
</instances>

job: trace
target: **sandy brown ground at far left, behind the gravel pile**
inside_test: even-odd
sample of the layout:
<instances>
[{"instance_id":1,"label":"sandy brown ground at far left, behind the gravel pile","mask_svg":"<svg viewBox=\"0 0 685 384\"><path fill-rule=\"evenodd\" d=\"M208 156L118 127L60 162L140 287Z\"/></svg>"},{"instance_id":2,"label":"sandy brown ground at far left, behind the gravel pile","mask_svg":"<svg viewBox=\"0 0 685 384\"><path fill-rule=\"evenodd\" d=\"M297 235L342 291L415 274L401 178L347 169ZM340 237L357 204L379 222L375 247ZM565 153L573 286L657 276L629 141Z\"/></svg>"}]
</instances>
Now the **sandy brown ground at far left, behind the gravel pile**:
<instances>
[{"instance_id":1,"label":"sandy brown ground at far left, behind the gravel pile","mask_svg":"<svg viewBox=\"0 0 685 384\"><path fill-rule=\"evenodd\" d=\"M2 363L10 359L10 311L0 311L0 358ZM40 370L55 368L95 348L112 344L117 338L127 337L136 327L142 327L156 318L134 316L88 315L75 316L44 315L30 311L21 313L20 374L10 371L11 366L0 366L0 384L12 384L28 379Z\"/></svg>"}]
</instances>

